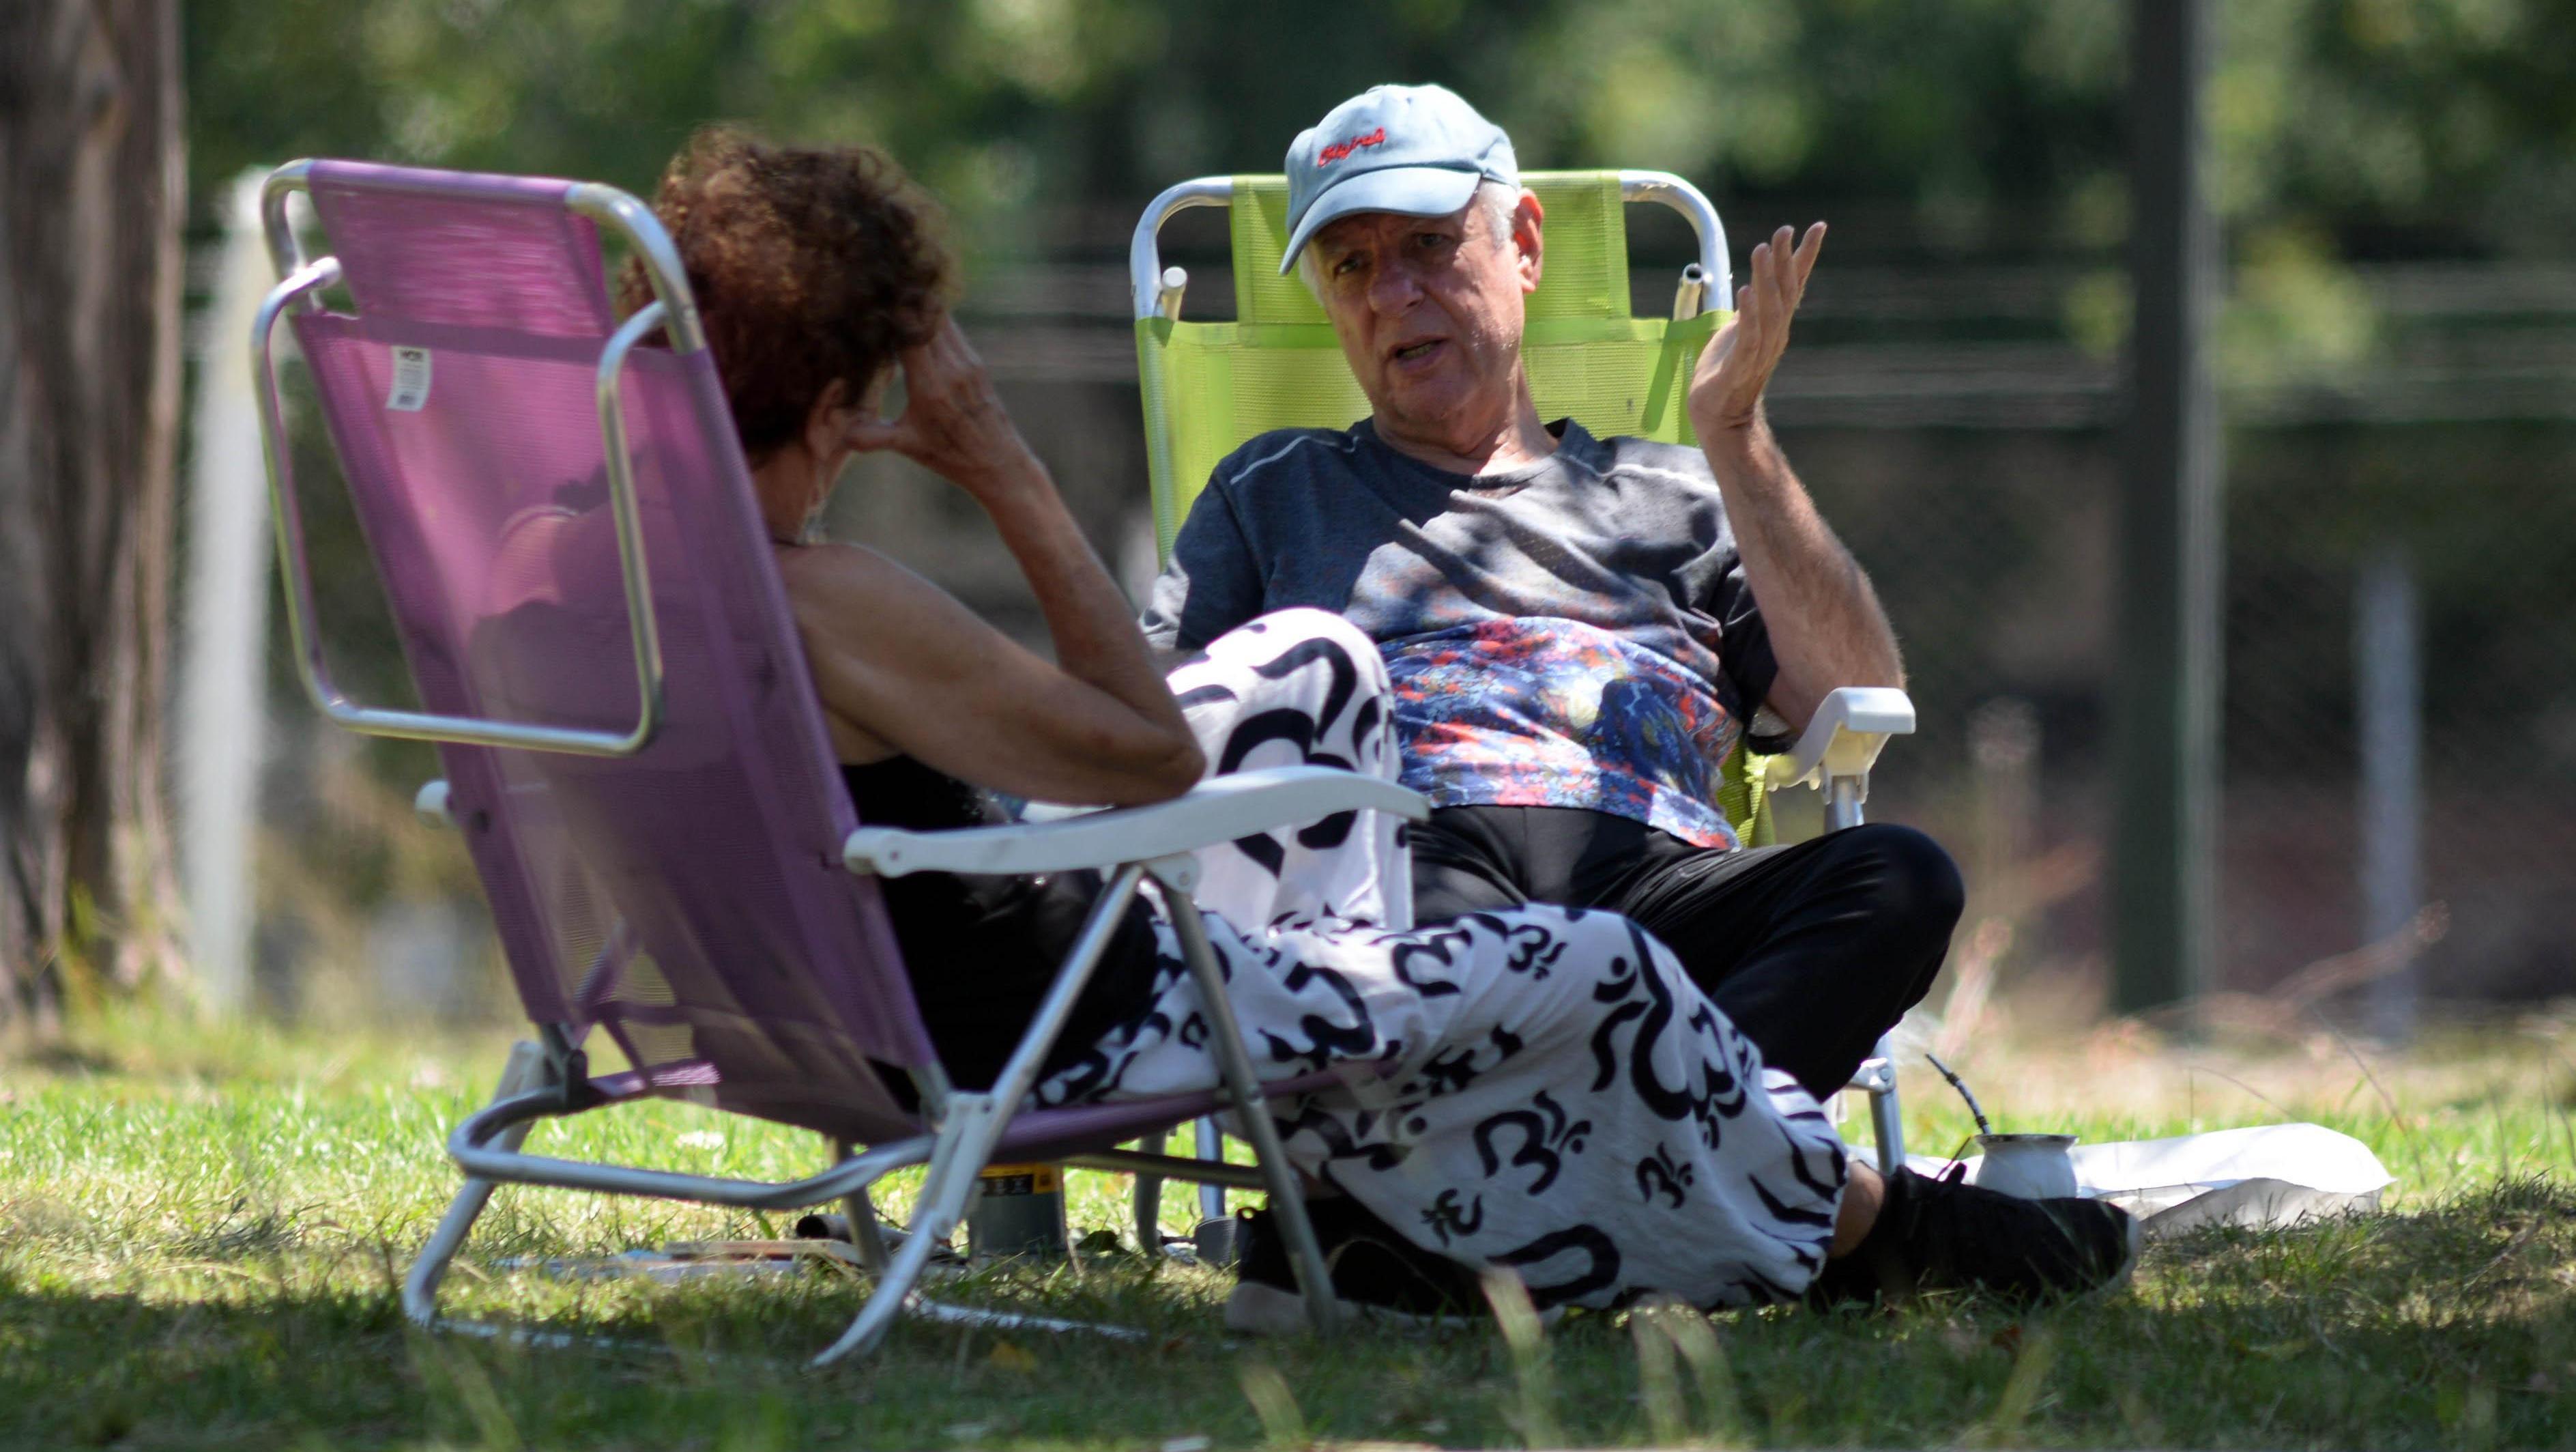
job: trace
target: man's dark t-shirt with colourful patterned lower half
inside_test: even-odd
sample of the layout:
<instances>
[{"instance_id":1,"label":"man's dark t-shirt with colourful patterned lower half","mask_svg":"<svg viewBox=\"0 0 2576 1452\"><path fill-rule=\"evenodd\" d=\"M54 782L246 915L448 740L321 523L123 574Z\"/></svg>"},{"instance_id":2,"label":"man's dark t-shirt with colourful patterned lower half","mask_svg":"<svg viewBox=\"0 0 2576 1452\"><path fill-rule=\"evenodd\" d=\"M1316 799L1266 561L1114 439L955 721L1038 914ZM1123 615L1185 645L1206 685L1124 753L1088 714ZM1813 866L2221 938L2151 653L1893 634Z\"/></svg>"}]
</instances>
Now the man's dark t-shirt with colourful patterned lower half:
<instances>
[{"instance_id":1,"label":"man's dark t-shirt with colourful patterned lower half","mask_svg":"<svg viewBox=\"0 0 2576 1452\"><path fill-rule=\"evenodd\" d=\"M1347 431L1229 454L1154 580L1195 650L1316 606L1386 655L1404 784L1443 807L1589 807L1736 846L1718 763L1777 665L1698 449L1551 426L1546 459L1450 475Z\"/></svg>"}]
</instances>

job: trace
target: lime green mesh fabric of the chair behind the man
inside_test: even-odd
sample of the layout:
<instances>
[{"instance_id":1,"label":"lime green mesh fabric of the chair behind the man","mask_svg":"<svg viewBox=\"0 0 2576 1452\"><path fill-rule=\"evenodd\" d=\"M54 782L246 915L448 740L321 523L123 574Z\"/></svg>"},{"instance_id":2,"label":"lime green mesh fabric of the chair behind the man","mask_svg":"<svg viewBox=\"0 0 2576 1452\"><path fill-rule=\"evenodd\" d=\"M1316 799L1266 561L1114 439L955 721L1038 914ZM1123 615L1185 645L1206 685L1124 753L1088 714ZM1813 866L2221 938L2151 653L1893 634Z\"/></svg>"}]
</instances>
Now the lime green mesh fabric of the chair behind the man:
<instances>
[{"instance_id":1,"label":"lime green mesh fabric of the chair behind the man","mask_svg":"<svg viewBox=\"0 0 2576 1452\"><path fill-rule=\"evenodd\" d=\"M1548 260L1520 343L1540 418L1571 415L1597 436L1695 444L1685 389L1728 315L1631 317L1618 173L1525 173L1522 183L1548 211ZM1164 560L1208 472L1236 446L1273 428L1350 428L1368 418L1324 307L1296 273L1280 276L1288 181L1234 178L1229 219L1234 322L1136 322L1154 544ZM1736 751L1723 776L1718 807L1747 846L1767 843L1759 758Z\"/></svg>"}]
</instances>

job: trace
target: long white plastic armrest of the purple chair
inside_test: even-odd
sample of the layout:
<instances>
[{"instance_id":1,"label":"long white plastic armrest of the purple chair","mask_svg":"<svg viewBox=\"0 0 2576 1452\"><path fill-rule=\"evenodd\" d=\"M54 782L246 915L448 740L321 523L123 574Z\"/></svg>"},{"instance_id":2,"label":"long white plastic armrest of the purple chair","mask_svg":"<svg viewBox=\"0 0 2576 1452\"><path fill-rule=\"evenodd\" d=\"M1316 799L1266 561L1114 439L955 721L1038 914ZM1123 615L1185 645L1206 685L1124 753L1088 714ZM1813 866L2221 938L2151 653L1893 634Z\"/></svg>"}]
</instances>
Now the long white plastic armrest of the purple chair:
<instances>
[{"instance_id":1,"label":"long white plastic armrest of the purple chair","mask_svg":"<svg viewBox=\"0 0 2576 1452\"><path fill-rule=\"evenodd\" d=\"M1079 867L1154 861L1350 810L1394 812L1409 823L1419 823L1430 815L1430 802L1381 776L1337 771L1332 766L1270 766L1211 776L1193 787L1188 797L1151 807L1084 812L1054 823L935 833L858 828L840 846L840 861L850 872L873 872L878 877L902 877L907 872L1072 872Z\"/></svg>"}]
</instances>

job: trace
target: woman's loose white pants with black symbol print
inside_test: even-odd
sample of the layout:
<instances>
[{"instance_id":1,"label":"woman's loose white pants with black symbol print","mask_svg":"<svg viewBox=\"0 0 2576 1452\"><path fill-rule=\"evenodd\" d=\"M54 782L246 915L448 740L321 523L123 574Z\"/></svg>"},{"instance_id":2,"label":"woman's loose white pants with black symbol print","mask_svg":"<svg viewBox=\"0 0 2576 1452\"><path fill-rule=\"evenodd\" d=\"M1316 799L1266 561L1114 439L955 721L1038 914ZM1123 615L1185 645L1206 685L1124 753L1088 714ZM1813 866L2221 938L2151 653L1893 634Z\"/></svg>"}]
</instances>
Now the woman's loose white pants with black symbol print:
<instances>
[{"instance_id":1,"label":"woman's loose white pants with black symbol print","mask_svg":"<svg viewBox=\"0 0 2576 1452\"><path fill-rule=\"evenodd\" d=\"M1376 645L1280 611L1172 673L1213 771L1334 763L1394 779ZM1327 818L1200 854L1200 908L1265 1078L1347 1065L1273 1101L1296 1166L1414 1243L1507 1266L1548 1305L1806 1290L1844 1184L1819 1104L1613 913L1525 905L1404 931L1396 823ZM1218 1081L1170 926L1151 1006L1041 1104Z\"/></svg>"}]
</instances>

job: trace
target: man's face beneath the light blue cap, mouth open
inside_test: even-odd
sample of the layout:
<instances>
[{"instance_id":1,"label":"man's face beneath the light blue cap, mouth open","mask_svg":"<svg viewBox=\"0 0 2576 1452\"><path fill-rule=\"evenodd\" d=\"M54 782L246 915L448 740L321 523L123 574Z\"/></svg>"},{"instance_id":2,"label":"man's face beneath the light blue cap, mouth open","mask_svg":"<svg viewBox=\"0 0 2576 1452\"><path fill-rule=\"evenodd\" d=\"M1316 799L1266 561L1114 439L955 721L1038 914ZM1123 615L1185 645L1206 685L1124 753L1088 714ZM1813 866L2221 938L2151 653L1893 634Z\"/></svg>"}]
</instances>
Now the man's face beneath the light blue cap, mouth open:
<instances>
[{"instance_id":1,"label":"man's face beneath the light blue cap, mouth open","mask_svg":"<svg viewBox=\"0 0 2576 1452\"><path fill-rule=\"evenodd\" d=\"M1535 199L1522 193L1504 235L1468 201L1448 217L1360 211L1306 245L1381 431L1455 446L1502 428L1520 400L1522 304L1538 286Z\"/></svg>"}]
</instances>

